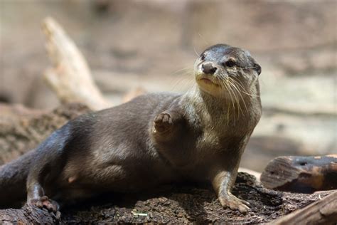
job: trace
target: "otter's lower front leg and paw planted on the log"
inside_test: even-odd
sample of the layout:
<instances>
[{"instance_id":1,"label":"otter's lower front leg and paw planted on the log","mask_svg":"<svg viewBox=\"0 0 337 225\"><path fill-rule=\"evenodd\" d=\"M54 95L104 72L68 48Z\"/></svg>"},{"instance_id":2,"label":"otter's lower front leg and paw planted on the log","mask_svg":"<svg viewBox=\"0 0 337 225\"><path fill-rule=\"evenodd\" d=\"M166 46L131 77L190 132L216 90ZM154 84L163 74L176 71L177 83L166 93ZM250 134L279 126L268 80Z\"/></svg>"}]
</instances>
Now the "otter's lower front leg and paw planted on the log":
<instances>
[{"instance_id":1,"label":"otter's lower front leg and paw planted on the log","mask_svg":"<svg viewBox=\"0 0 337 225\"><path fill-rule=\"evenodd\" d=\"M218 199L222 206L228 206L230 209L238 209L242 213L246 213L250 210L250 203L242 199L238 199L232 193L232 186L234 185L237 175L237 169L235 171L227 172L221 171L215 174L212 184L215 192L218 194Z\"/></svg>"}]
</instances>

